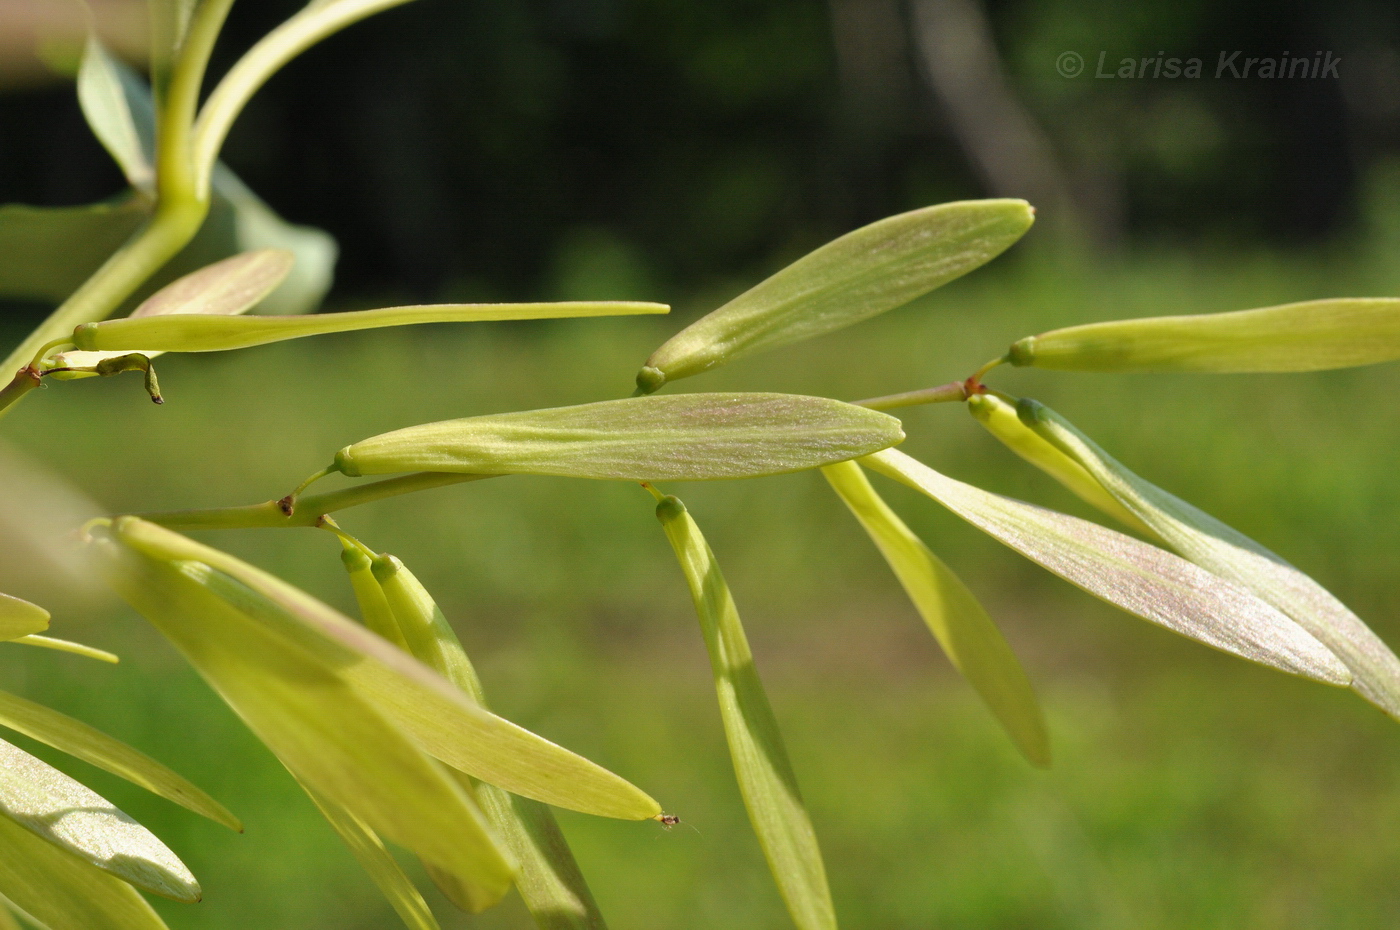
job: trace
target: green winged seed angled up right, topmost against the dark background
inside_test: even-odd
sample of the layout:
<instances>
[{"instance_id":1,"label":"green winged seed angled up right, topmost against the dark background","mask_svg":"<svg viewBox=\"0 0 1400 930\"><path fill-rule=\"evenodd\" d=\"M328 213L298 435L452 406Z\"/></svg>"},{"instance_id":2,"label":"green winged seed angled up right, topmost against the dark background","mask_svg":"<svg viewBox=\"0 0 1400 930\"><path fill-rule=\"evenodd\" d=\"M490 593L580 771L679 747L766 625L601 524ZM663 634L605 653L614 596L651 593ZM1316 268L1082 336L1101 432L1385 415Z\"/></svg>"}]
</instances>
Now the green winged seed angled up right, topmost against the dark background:
<instances>
[{"instance_id":1,"label":"green winged seed angled up right, topmost against the dark background","mask_svg":"<svg viewBox=\"0 0 1400 930\"><path fill-rule=\"evenodd\" d=\"M1033 220L1025 200L965 200L847 233L672 336L647 359L637 387L650 394L895 310L1001 255Z\"/></svg>"}]
</instances>

